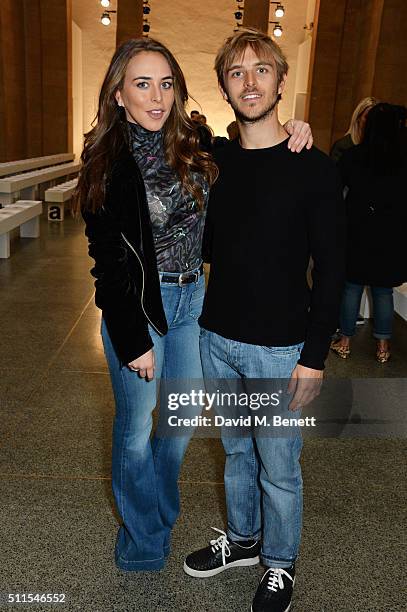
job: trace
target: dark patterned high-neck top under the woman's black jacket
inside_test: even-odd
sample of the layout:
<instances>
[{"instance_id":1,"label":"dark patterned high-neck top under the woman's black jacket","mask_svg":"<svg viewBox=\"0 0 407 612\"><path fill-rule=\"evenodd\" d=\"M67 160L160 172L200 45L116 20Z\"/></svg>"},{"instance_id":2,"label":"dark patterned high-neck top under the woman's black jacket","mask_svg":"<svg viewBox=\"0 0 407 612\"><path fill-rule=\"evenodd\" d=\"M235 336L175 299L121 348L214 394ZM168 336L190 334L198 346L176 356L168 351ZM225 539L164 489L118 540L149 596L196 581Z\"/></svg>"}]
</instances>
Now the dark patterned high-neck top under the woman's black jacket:
<instances>
[{"instance_id":1,"label":"dark patterned high-neck top under the woman's black jacket","mask_svg":"<svg viewBox=\"0 0 407 612\"><path fill-rule=\"evenodd\" d=\"M160 272L187 272L201 265L205 213L184 192L177 173L165 161L162 131L150 132L128 122L130 149L143 177ZM205 209L209 187L201 174Z\"/></svg>"}]
</instances>

